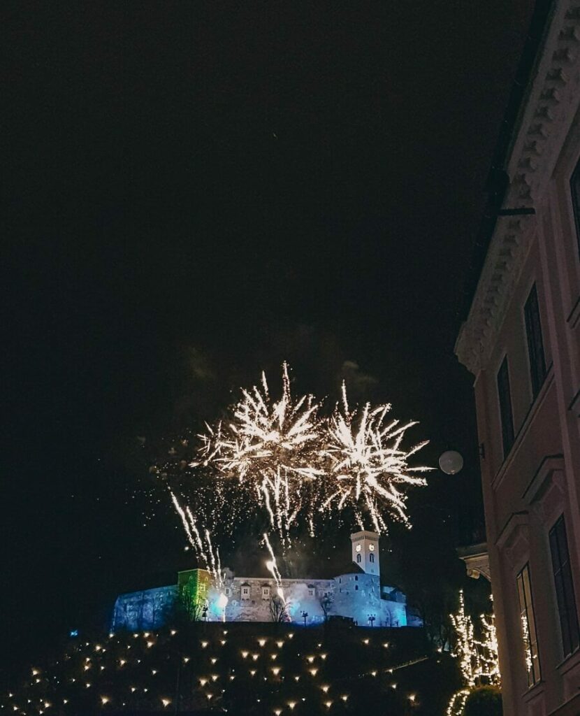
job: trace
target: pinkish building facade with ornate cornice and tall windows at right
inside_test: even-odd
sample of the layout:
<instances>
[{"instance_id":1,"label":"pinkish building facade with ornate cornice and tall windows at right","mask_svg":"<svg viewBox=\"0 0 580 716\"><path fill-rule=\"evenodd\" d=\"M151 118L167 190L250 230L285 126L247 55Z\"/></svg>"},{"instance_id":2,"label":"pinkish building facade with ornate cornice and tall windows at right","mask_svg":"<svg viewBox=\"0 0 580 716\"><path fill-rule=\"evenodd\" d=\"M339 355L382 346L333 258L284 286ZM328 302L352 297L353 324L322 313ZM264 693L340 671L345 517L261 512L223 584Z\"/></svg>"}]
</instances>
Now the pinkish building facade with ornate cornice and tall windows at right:
<instances>
[{"instance_id":1,"label":"pinkish building facade with ornate cornice and tall windows at right","mask_svg":"<svg viewBox=\"0 0 580 716\"><path fill-rule=\"evenodd\" d=\"M580 3L551 4L456 342L474 380L504 713L580 714ZM500 182L501 184L501 182ZM491 212L489 212L491 214ZM486 574L481 546L464 555Z\"/></svg>"}]
</instances>

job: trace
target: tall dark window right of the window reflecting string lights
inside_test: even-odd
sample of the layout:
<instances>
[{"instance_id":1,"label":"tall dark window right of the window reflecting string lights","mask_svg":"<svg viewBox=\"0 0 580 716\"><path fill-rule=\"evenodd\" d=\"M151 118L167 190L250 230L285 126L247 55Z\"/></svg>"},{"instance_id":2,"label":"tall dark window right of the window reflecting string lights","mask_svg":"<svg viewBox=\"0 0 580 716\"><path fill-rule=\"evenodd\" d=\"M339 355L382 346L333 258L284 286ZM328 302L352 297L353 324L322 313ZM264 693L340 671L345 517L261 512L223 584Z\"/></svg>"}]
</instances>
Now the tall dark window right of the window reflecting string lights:
<instances>
[{"instance_id":1,"label":"tall dark window right of the window reflecting string lights","mask_svg":"<svg viewBox=\"0 0 580 716\"><path fill-rule=\"evenodd\" d=\"M562 648L564 657L569 656L580 645L578 612L574 599L574 584L570 569L570 554L566 538L566 524L562 515L550 530L550 551L552 553L552 570L556 586L556 601L560 617Z\"/></svg>"}]
</instances>

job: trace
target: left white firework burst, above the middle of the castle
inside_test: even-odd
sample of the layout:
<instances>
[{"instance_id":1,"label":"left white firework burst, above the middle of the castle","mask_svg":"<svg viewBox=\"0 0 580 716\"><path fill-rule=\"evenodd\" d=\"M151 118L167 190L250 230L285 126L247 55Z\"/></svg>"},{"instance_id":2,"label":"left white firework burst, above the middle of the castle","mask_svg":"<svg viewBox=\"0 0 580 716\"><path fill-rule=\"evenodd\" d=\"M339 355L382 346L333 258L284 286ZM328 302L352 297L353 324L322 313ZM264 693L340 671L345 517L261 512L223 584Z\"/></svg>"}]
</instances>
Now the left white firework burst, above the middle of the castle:
<instances>
[{"instance_id":1,"label":"left white firework burst, above the middle of the castle","mask_svg":"<svg viewBox=\"0 0 580 716\"><path fill-rule=\"evenodd\" d=\"M312 504L310 483L325 474L319 409L312 395L293 397L283 364L280 400L272 401L262 373L261 387L242 390L229 420L207 426L200 460L191 463L212 466L222 478L235 478L242 492L253 493L285 547L300 511Z\"/></svg>"}]
</instances>

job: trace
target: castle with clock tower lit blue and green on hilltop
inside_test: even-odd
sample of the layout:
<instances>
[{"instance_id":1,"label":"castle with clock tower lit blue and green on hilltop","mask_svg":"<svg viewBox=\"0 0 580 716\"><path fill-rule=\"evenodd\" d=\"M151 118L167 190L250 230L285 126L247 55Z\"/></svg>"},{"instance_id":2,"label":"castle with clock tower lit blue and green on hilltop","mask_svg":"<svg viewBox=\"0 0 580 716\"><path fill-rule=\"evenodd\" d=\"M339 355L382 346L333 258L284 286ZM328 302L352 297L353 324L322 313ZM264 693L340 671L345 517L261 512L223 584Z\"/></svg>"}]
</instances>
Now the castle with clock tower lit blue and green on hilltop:
<instances>
[{"instance_id":1,"label":"castle with clock tower lit blue and green on hilltop","mask_svg":"<svg viewBox=\"0 0 580 716\"><path fill-rule=\"evenodd\" d=\"M393 586L381 586L378 534L350 535L351 561L333 579L282 579L232 576L221 591L205 569L177 575L177 584L121 594L114 605L112 629L158 629L175 619L182 607L191 619L207 621L277 621L278 587L286 601L285 620L320 624L342 617L360 627L421 627L407 609L405 595Z\"/></svg>"}]
</instances>

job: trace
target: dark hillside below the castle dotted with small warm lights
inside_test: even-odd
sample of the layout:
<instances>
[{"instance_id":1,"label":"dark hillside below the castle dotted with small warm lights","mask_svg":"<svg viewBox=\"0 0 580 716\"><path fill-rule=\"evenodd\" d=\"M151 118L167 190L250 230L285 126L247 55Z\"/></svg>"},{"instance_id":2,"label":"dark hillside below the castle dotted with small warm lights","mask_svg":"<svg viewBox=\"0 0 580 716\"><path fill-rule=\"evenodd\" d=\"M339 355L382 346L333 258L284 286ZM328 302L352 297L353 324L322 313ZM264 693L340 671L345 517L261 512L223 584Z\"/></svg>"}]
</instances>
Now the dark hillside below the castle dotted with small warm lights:
<instances>
[{"instance_id":1,"label":"dark hillside below the castle dotted with small warm lights","mask_svg":"<svg viewBox=\"0 0 580 716\"><path fill-rule=\"evenodd\" d=\"M0 712L88 716L178 712L210 703L217 712L235 704L253 713L262 703L280 714L341 714L354 712L369 688L371 697L386 698L393 707L421 702L414 679L395 693L393 673L400 672L400 681L426 657L398 663L378 634L369 645L357 632L328 638L326 632L299 630L294 638L294 632L261 626L262 636L258 629L232 633L214 623L75 641L53 664L35 665L21 689L2 695ZM321 641L314 644L313 637Z\"/></svg>"}]
</instances>

